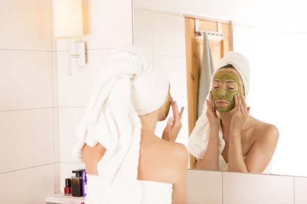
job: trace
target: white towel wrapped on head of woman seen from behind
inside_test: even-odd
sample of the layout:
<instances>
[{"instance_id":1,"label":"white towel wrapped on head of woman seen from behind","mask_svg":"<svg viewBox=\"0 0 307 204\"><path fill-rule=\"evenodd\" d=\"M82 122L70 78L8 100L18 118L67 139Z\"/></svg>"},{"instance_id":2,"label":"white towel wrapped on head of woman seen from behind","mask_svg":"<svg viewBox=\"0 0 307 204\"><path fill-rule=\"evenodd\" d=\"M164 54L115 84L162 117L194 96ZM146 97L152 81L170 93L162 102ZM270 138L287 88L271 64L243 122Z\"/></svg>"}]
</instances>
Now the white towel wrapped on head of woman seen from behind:
<instances>
[{"instance_id":1,"label":"white towel wrapped on head of woman seen from behind","mask_svg":"<svg viewBox=\"0 0 307 204\"><path fill-rule=\"evenodd\" d=\"M112 203L142 201L137 180L141 142L138 115L158 110L166 101L169 82L164 69L137 45L116 49L98 77L96 89L78 126L72 155L83 162L86 143L107 150L97 165L98 177ZM99 195L97 195L99 197Z\"/></svg>"}]
</instances>

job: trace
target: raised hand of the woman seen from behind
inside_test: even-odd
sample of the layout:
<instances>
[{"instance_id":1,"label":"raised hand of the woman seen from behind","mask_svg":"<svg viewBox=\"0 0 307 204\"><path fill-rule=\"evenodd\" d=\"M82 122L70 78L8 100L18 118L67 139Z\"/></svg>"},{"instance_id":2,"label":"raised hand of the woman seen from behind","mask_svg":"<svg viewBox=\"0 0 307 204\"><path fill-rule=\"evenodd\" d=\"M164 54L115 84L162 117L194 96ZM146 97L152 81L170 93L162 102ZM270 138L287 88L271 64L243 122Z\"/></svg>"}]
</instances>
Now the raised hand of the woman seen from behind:
<instances>
[{"instance_id":1,"label":"raised hand of the woman seen from behind","mask_svg":"<svg viewBox=\"0 0 307 204\"><path fill-rule=\"evenodd\" d=\"M179 134L179 131L182 127L181 118L184 111L182 107L180 113L178 111L177 102L171 99L171 109L173 111L173 117L170 117L167 121L166 127L162 134L162 139L174 142Z\"/></svg>"}]
</instances>

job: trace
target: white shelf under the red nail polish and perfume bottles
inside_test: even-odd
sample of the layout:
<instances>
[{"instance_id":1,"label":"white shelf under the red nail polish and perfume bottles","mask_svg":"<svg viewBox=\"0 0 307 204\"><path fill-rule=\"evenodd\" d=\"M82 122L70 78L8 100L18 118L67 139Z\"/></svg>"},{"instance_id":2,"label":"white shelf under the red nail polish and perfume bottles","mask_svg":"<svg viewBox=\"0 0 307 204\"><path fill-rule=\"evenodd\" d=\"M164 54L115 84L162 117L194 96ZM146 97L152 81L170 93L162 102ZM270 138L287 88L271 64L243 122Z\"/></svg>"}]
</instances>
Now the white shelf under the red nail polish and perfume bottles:
<instances>
[{"instance_id":1,"label":"white shelf under the red nail polish and perfume bottles","mask_svg":"<svg viewBox=\"0 0 307 204\"><path fill-rule=\"evenodd\" d=\"M56 193L46 196L47 203L61 203L61 204L80 204L85 201L85 197L73 197L71 195L64 195L64 193Z\"/></svg>"}]
</instances>

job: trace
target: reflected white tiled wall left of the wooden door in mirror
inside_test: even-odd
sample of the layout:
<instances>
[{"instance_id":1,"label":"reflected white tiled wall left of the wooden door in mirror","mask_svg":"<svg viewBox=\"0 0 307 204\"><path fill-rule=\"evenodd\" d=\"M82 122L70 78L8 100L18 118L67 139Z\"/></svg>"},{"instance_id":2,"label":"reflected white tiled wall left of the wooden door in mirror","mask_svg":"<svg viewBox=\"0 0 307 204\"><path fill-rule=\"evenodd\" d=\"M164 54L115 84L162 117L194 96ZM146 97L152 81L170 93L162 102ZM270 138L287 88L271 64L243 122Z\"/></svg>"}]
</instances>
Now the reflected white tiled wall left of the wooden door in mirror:
<instances>
[{"instance_id":1,"label":"reflected white tiled wall left of the wooden door in mirror","mask_svg":"<svg viewBox=\"0 0 307 204\"><path fill-rule=\"evenodd\" d=\"M136 43L151 50L156 66L166 69L170 82L170 92L177 101L179 109L185 107L182 117L182 129L177 142L187 146L188 109L187 77L185 58L184 17L161 12L136 9ZM170 110L169 116L172 116ZM167 119L158 122L156 135L162 136Z\"/></svg>"}]
</instances>

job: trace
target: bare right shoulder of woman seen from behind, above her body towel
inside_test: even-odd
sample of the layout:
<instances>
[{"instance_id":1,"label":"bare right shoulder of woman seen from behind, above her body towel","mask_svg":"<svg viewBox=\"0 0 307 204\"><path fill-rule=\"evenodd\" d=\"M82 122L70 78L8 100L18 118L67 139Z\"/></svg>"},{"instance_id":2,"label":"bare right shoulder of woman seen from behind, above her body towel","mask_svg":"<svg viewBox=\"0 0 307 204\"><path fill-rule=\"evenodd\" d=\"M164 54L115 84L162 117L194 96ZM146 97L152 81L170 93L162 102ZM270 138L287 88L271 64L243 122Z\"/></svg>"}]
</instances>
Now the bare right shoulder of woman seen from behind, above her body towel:
<instances>
[{"instance_id":1,"label":"bare right shoulder of woman seen from behind, above her body towel","mask_svg":"<svg viewBox=\"0 0 307 204\"><path fill-rule=\"evenodd\" d=\"M189 154L185 145L158 137L142 140L139 179L176 183L188 167Z\"/></svg>"}]
</instances>

